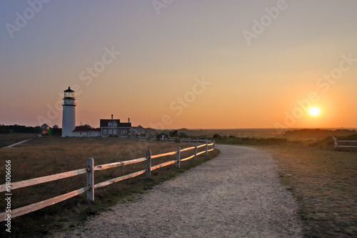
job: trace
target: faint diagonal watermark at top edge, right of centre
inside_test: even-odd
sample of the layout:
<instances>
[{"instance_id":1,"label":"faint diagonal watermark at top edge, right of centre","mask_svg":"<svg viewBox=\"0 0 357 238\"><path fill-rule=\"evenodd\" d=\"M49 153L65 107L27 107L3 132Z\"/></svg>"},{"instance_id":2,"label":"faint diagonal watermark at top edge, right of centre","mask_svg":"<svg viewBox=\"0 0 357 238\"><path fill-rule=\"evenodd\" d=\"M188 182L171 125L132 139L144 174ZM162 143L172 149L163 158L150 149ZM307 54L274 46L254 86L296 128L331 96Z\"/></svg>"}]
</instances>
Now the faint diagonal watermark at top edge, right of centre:
<instances>
[{"instance_id":1,"label":"faint diagonal watermark at top edge, right of centre","mask_svg":"<svg viewBox=\"0 0 357 238\"><path fill-rule=\"evenodd\" d=\"M264 11L266 11L266 14L261 16L261 18L258 20L253 19L253 27L251 31L247 31L246 29L242 31L244 39L246 39L248 46L251 45L252 39L257 39L259 35L263 34L266 28L268 26L271 26L271 24L273 24L273 21L278 19L281 14L281 11L285 11L286 9L288 9L288 4L285 0L278 0L276 2L276 6L272 6L271 8L265 7Z\"/></svg>"}]
</instances>

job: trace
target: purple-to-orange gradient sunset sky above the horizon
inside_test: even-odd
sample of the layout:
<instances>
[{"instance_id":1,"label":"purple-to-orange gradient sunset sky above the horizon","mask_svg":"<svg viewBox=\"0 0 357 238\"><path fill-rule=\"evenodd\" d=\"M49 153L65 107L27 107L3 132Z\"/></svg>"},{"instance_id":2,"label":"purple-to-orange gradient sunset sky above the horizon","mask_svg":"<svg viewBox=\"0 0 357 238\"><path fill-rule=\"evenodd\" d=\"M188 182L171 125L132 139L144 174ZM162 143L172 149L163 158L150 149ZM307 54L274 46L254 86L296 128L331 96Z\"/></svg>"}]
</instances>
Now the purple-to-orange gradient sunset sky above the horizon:
<instances>
[{"instance_id":1,"label":"purple-to-orange gradient sunset sky above the horizon","mask_svg":"<svg viewBox=\"0 0 357 238\"><path fill-rule=\"evenodd\" d=\"M357 1L39 2L1 1L0 124L61 127L71 86L77 125L357 127Z\"/></svg>"}]
</instances>

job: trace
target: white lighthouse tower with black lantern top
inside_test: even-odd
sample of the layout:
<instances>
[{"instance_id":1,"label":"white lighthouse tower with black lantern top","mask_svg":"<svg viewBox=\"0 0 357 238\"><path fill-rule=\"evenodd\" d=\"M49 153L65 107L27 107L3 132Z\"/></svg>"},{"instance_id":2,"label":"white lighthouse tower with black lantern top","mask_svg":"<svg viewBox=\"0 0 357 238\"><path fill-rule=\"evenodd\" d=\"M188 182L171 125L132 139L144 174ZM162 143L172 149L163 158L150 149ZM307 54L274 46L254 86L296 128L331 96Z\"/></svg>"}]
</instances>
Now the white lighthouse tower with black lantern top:
<instances>
[{"instance_id":1,"label":"white lighthouse tower with black lantern top","mask_svg":"<svg viewBox=\"0 0 357 238\"><path fill-rule=\"evenodd\" d=\"M64 90L64 106L62 113L62 137L72 137L72 131L76 128L76 103L74 91L68 87Z\"/></svg>"}]
</instances>

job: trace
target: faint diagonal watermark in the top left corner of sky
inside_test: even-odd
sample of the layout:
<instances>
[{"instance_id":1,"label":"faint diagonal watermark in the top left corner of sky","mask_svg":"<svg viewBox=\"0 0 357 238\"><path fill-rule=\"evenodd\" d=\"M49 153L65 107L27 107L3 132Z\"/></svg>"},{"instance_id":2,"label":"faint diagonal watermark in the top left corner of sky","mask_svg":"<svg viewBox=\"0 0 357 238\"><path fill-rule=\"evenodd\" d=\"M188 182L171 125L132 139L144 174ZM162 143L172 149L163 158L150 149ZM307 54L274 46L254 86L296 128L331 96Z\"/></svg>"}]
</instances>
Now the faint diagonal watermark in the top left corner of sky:
<instances>
[{"instance_id":1,"label":"faint diagonal watermark in the top left corner of sky","mask_svg":"<svg viewBox=\"0 0 357 238\"><path fill-rule=\"evenodd\" d=\"M16 19L14 24L6 23L5 27L11 39L14 38L14 33L16 31L21 31L27 23L34 18L34 16L41 11L44 4L47 4L50 0L29 0L26 3L29 5L28 8L24 9L22 13L16 11Z\"/></svg>"}]
</instances>

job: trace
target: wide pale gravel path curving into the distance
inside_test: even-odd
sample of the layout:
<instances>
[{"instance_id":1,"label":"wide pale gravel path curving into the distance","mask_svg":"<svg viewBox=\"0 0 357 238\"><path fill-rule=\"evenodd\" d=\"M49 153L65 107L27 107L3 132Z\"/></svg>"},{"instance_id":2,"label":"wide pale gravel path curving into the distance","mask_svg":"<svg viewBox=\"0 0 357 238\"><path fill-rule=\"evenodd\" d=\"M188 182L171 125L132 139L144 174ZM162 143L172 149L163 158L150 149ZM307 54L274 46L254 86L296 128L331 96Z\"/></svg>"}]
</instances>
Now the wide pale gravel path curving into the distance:
<instances>
[{"instance_id":1,"label":"wide pale gravel path curving into the distance","mask_svg":"<svg viewBox=\"0 0 357 238\"><path fill-rule=\"evenodd\" d=\"M218 145L221 154L56 237L302 237L296 203L271 155Z\"/></svg>"}]
</instances>

